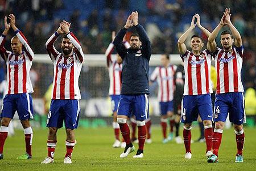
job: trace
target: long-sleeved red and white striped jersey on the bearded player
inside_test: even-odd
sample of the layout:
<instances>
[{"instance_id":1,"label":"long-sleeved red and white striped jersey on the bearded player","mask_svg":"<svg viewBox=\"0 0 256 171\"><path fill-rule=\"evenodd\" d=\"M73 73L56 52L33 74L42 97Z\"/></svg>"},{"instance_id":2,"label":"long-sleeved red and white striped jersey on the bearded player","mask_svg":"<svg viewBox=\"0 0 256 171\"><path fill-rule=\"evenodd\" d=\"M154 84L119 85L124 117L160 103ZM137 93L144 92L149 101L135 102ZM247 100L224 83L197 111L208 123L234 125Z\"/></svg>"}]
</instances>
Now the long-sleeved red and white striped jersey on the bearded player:
<instances>
[{"instance_id":1,"label":"long-sleeved red and white striped jersey on the bearded player","mask_svg":"<svg viewBox=\"0 0 256 171\"><path fill-rule=\"evenodd\" d=\"M75 48L73 48L73 54L65 58L53 46L57 37L59 37L59 34L55 32L46 42L46 49L52 59L54 70L52 99L81 99L79 75L84 53L80 42L72 32L68 33L67 37Z\"/></svg>"}]
</instances>

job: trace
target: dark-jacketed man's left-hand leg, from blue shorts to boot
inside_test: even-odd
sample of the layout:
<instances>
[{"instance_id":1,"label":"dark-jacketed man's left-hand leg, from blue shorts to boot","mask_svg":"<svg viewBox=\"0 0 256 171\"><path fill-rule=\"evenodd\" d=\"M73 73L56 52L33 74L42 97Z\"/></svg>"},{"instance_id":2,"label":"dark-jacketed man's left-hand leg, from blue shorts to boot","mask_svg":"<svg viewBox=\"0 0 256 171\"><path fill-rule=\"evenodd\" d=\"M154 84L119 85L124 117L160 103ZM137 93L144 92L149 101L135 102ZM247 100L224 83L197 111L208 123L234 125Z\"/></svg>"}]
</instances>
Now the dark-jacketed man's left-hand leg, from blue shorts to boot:
<instances>
[{"instance_id":1,"label":"dark-jacketed man's left-hand leg, from blue shorts to boot","mask_svg":"<svg viewBox=\"0 0 256 171\"><path fill-rule=\"evenodd\" d=\"M131 102L134 96L121 95L121 99L118 104L117 110L117 122L120 127L123 139L125 140L126 147L123 153L120 155L121 158L127 157L129 153L134 151L134 146L130 139L130 129L127 124L127 118L131 114Z\"/></svg>"}]
</instances>

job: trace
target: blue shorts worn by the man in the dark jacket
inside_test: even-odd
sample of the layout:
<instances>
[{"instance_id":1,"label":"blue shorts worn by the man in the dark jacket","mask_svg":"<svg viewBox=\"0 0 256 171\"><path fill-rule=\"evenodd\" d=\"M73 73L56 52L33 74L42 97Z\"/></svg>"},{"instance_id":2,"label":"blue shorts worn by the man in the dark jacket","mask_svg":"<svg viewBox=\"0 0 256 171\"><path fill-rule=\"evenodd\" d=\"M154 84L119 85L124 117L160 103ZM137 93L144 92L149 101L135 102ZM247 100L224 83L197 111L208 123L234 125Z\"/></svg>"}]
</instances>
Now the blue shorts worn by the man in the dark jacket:
<instances>
[{"instance_id":1,"label":"blue shorts worn by the man in the dark jacket","mask_svg":"<svg viewBox=\"0 0 256 171\"><path fill-rule=\"evenodd\" d=\"M144 121L148 118L147 95L121 95L117 115L131 117L134 114L137 121Z\"/></svg>"}]
</instances>

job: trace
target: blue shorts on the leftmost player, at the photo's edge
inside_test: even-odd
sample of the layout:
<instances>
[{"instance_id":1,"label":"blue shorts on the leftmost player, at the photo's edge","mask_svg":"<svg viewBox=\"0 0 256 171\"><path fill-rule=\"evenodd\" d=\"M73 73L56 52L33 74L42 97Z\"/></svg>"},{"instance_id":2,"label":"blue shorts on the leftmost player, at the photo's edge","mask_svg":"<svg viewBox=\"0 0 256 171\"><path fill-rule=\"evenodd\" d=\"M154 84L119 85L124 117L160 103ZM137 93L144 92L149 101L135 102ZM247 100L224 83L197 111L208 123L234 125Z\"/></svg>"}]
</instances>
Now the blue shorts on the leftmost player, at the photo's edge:
<instances>
[{"instance_id":1,"label":"blue shorts on the leftmost player, at the photo's edge","mask_svg":"<svg viewBox=\"0 0 256 171\"><path fill-rule=\"evenodd\" d=\"M13 119L17 111L20 121L33 119L33 105L30 93L6 95L3 98L1 118Z\"/></svg>"}]
</instances>

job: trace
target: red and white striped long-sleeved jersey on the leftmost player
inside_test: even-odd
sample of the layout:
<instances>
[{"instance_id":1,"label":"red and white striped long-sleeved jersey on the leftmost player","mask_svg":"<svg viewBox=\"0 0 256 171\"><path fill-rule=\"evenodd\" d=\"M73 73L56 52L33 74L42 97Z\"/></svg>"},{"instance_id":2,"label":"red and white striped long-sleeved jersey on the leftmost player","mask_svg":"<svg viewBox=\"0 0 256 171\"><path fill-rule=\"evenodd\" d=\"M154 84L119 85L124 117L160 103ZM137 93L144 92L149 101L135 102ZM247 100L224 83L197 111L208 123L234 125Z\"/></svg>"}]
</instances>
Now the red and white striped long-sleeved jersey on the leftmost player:
<instances>
[{"instance_id":1,"label":"red and white striped long-sleeved jersey on the leftmost player","mask_svg":"<svg viewBox=\"0 0 256 171\"><path fill-rule=\"evenodd\" d=\"M7 66L7 94L32 93L34 92L30 80L30 69L34 52L28 45L26 37L19 30L15 31L16 36L24 47L21 54L14 54L5 49L5 35L0 37L0 53Z\"/></svg>"}]
</instances>

